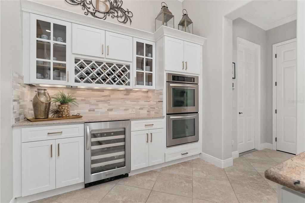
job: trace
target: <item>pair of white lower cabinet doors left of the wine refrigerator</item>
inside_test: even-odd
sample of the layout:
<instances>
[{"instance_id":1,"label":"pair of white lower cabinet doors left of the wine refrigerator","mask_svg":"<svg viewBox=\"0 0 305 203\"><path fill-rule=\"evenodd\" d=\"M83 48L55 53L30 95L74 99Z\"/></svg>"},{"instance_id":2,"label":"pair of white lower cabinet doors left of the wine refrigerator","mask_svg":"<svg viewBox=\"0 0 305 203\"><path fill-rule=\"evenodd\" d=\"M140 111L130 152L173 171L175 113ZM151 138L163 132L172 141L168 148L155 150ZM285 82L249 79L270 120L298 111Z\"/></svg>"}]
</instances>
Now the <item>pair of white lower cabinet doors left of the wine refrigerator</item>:
<instances>
[{"instance_id":1,"label":"pair of white lower cabinet doors left of the wine refrigerator","mask_svg":"<svg viewBox=\"0 0 305 203\"><path fill-rule=\"evenodd\" d=\"M84 137L22 143L22 196L84 181Z\"/></svg>"}]
</instances>

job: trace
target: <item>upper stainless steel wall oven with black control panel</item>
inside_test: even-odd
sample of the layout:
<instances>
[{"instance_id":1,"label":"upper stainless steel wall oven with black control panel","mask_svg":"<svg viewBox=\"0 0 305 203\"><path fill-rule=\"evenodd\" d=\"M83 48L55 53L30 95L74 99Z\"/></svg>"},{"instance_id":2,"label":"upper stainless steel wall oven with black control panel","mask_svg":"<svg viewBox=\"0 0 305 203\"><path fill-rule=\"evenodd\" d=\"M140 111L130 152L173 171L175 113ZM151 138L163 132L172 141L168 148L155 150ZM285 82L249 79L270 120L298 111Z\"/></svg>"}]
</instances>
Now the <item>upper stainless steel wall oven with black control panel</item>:
<instances>
[{"instance_id":1,"label":"upper stainless steel wall oven with black control panel","mask_svg":"<svg viewBox=\"0 0 305 203\"><path fill-rule=\"evenodd\" d=\"M166 113L198 112L198 76L167 73Z\"/></svg>"}]
</instances>

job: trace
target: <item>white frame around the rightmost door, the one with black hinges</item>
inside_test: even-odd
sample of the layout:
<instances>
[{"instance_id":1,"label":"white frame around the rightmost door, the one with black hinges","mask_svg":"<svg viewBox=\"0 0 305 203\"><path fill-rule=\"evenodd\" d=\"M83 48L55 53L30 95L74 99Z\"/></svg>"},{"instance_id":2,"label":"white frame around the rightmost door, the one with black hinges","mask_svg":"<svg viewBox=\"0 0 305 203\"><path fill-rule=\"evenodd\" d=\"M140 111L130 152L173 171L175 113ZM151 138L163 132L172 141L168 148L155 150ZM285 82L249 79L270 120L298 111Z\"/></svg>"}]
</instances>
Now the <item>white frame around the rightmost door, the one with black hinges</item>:
<instances>
[{"instance_id":1,"label":"white frame around the rightmost door, the one with black hinges","mask_svg":"<svg viewBox=\"0 0 305 203\"><path fill-rule=\"evenodd\" d=\"M289 44L291 42L295 42L296 38L290 39L287 41L282 41L280 43L272 45L272 149L276 150L276 142L275 142L275 137L276 137L276 47Z\"/></svg>"}]
</instances>

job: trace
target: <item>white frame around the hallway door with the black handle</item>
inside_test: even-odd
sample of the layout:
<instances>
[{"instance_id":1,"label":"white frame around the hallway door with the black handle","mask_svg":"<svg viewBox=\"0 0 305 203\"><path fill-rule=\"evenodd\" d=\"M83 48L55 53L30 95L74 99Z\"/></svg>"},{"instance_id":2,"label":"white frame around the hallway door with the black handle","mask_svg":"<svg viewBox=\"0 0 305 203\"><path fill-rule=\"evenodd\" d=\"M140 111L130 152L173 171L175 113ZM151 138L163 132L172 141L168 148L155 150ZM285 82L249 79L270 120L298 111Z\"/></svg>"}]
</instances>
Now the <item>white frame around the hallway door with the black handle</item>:
<instances>
[{"instance_id":1,"label":"white frame around the hallway door with the black handle","mask_svg":"<svg viewBox=\"0 0 305 203\"><path fill-rule=\"evenodd\" d=\"M242 39L240 37L237 37L237 52L238 52L238 45L245 45L248 47L253 48L255 51L255 67L254 67L254 84L255 84L255 89L254 89L254 120L255 120L255 130L254 130L254 146L255 149L260 150L260 45L255 44L251 41ZM238 55L238 53L237 53ZM238 60L236 60L236 67L238 69ZM235 73L238 73L238 71L235 71ZM238 75L237 75L238 77ZM238 88L237 88L237 95L238 95ZM237 99L237 109L238 109L238 99ZM238 115L237 115L238 119ZM238 129L238 122L237 122L237 129ZM237 151L238 151L238 136L237 136Z\"/></svg>"}]
</instances>

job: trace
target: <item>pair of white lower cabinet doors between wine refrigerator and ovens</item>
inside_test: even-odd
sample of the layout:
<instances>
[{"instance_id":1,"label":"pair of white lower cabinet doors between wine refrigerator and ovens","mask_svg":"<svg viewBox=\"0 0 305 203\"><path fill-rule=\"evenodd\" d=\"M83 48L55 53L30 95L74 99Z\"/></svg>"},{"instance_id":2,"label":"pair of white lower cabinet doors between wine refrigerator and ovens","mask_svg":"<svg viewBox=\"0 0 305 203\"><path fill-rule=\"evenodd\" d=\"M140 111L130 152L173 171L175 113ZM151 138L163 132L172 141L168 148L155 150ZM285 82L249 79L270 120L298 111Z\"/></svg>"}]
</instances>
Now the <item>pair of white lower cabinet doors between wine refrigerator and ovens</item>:
<instances>
[{"instance_id":1,"label":"pair of white lower cabinet doors between wine refrigerator and ovens","mask_svg":"<svg viewBox=\"0 0 305 203\"><path fill-rule=\"evenodd\" d=\"M163 163L164 153L164 128L131 132L131 170Z\"/></svg>"}]
</instances>

